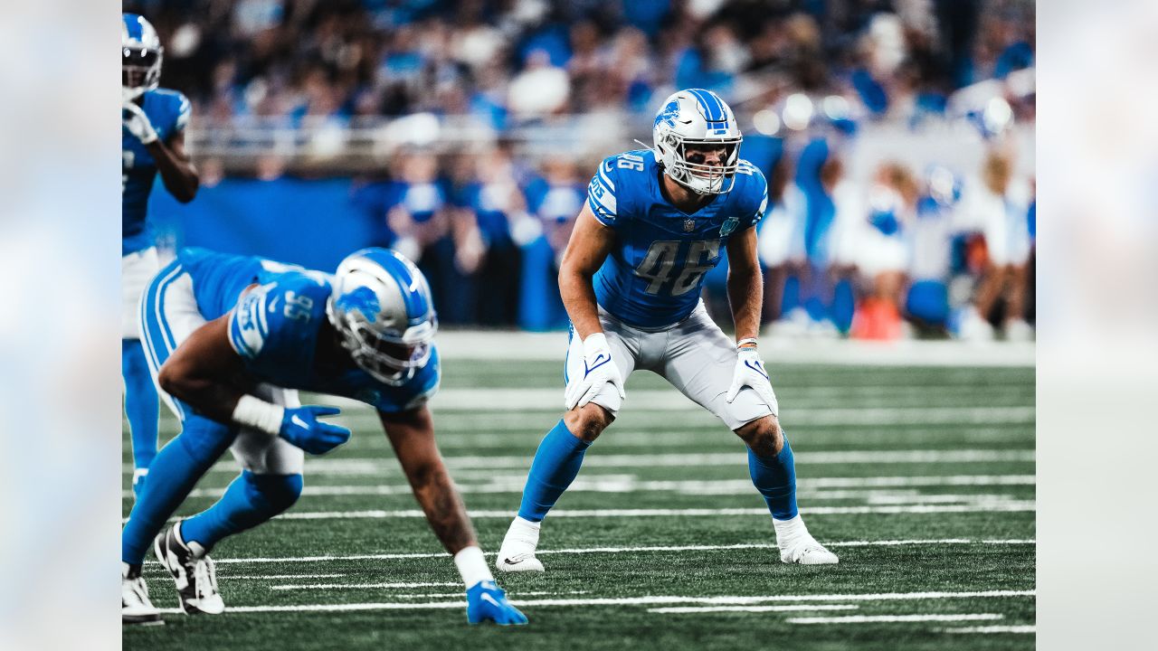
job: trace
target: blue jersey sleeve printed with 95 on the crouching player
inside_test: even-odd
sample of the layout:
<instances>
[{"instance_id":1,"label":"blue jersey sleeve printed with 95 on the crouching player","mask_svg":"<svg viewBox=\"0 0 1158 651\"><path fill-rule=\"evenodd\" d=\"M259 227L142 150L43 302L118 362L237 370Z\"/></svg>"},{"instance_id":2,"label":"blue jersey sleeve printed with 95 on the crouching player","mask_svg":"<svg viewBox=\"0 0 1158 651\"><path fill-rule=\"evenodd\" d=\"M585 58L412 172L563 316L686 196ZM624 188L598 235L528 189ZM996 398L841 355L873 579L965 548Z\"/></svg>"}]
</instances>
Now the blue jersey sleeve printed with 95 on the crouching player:
<instances>
[{"instance_id":1,"label":"blue jersey sleeve printed with 95 on the crouching player","mask_svg":"<svg viewBox=\"0 0 1158 651\"><path fill-rule=\"evenodd\" d=\"M325 283L299 272L254 287L233 309L229 344L251 366L300 353L305 339L325 319L329 293Z\"/></svg>"}]
</instances>

